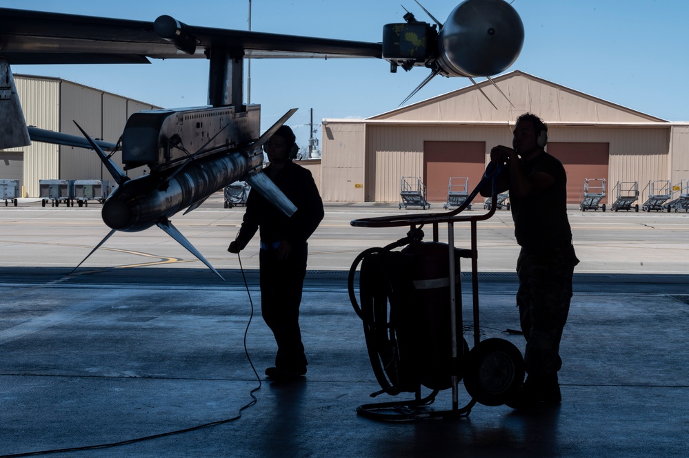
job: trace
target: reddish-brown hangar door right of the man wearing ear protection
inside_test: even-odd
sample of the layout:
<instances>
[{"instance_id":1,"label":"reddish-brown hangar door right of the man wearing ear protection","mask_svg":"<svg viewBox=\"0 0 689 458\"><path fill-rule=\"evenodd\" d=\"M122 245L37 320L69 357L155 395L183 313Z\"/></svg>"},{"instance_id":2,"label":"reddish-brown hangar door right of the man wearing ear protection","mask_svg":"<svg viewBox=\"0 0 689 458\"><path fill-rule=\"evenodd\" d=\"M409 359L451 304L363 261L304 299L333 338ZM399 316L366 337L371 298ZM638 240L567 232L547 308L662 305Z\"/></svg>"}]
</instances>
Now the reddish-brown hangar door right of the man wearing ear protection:
<instances>
[{"instance_id":1,"label":"reddish-brown hangar door right of the man wearing ear protection","mask_svg":"<svg viewBox=\"0 0 689 458\"><path fill-rule=\"evenodd\" d=\"M586 178L605 178L606 196L601 204L612 202L609 200L612 187L608 183L609 150L609 143L548 143L546 151L558 158L567 172L568 203L581 203Z\"/></svg>"}]
</instances>

